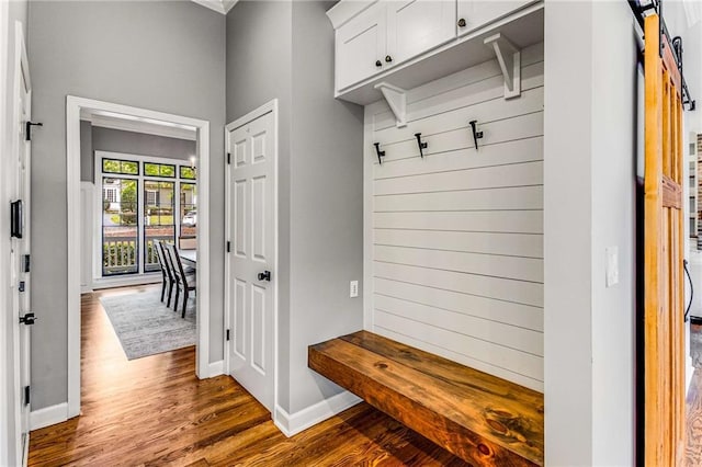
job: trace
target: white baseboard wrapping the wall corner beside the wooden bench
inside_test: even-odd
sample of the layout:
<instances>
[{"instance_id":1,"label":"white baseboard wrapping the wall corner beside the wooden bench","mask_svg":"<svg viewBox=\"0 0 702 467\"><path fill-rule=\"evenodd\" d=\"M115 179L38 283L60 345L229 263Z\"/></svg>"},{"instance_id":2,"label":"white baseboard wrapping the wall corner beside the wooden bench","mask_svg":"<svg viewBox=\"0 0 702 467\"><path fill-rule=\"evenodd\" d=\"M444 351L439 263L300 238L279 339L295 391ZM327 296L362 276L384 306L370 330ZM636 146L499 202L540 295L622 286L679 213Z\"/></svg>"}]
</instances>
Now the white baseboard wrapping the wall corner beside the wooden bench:
<instances>
[{"instance_id":1,"label":"white baseboard wrapping the wall corner beside the wooden bench","mask_svg":"<svg viewBox=\"0 0 702 467\"><path fill-rule=\"evenodd\" d=\"M273 422L285 436L290 437L301 431L307 430L309 426L316 425L317 423L336 415L337 413L343 412L362 400L363 399L359 398L353 392L343 391L293 414L287 413L276 405L275 413L273 414Z\"/></svg>"}]
</instances>

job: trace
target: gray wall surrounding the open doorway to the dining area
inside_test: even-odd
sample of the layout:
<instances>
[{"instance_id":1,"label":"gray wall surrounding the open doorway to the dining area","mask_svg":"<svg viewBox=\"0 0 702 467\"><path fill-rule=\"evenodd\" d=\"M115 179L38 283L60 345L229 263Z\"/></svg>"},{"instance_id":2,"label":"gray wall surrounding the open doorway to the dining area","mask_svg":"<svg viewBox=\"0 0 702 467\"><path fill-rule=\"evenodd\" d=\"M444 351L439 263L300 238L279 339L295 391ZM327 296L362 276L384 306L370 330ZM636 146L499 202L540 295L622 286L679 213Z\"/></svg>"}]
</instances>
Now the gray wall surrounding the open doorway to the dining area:
<instances>
[{"instance_id":1,"label":"gray wall surrounding the open doorway to the dining area","mask_svg":"<svg viewBox=\"0 0 702 467\"><path fill-rule=\"evenodd\" d=\"M66 95L211 123L211 361L223 358L225 18L190 1L33 1L33 409L67 400ZM50 235L49 235L50 232Z\"/></svg>"}]
</instances>

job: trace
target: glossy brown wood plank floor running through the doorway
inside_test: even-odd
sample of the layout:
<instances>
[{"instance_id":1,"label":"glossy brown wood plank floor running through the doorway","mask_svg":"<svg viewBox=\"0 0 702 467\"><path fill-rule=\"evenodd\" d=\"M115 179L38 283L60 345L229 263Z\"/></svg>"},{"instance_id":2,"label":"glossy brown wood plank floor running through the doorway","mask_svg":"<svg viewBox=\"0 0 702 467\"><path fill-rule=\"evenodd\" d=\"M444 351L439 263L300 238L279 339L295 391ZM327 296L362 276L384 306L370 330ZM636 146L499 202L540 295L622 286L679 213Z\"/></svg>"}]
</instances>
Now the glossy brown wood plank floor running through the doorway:
<instances>
[{"instance_id":1,"label":"glossy brown wood plank floor running through the doorway","mask_svg":"<svg viewBox=\"0 0 702 467\"><path fill-rule=\"evenodd\" d=\"M99 297L82 297L82 414L31 433L30 465L463 466L365 403L286 438L228 376L199 380L194 348L127 361Z\"/></svg>"}]
</instances>

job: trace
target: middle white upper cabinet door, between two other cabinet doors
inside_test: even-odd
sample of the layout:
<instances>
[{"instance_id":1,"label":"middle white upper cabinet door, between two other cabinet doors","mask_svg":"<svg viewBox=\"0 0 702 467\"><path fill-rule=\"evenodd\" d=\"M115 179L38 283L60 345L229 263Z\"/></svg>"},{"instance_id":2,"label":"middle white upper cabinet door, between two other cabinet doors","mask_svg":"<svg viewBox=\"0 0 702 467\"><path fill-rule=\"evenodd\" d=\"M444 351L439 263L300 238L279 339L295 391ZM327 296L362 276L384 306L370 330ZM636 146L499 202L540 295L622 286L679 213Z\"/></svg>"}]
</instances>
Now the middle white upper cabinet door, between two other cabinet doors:
<instances>
[{"instance_id":1,"label":"middle white upper cabinet door, between two other cabinet doors","mask_svg":"<svg viewBox=\"0 0 702 467\"><path fill-rule=\"evenodd\" d=\"M445 0L387 1L384 66L416 57L456 36L456 3ZM387 61L389 60L392 61Z\"/></svg>"}]
</instances>

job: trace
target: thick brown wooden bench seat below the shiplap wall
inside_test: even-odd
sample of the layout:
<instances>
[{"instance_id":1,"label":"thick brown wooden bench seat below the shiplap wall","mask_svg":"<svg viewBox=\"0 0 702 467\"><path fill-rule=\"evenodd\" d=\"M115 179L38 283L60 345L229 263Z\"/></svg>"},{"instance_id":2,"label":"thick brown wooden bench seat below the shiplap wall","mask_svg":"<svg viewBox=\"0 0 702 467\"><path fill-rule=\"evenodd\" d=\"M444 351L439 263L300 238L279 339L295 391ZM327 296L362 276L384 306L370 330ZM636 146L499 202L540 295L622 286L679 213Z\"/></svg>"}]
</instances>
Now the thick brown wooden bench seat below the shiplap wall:
<instances>
[{"instance_id":1,"label":"thick brown wooden bench seat below the shiplap wall","mask_svg":"<svg viewBox=\"0 0 702 467\"><path fill-rule=\"evenodd\" d=\"M308 365L475 466L542 466L543 395L367 331L310 345Z\"/></svg>"}]
</instances>

